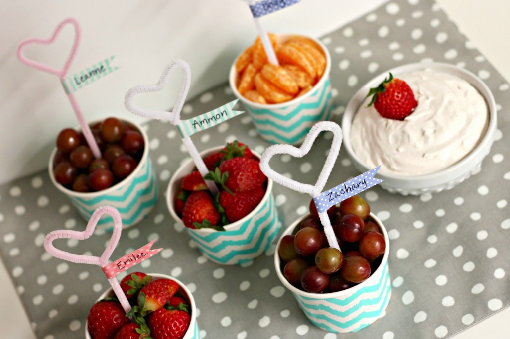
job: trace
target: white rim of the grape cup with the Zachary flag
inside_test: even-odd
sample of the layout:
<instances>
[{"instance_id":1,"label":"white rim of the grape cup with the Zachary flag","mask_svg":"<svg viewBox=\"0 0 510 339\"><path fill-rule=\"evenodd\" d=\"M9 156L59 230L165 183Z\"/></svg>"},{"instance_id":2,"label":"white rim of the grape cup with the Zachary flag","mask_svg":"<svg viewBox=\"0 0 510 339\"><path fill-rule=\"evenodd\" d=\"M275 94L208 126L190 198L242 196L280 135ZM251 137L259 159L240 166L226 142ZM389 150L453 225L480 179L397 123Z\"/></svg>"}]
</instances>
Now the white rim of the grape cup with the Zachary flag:
<instances>
[{"instance_id":1,"label":"white rim of the grape cup with the Zachary flag","mask_svg":"<svg viewBox=\"0 0 510 339\"><path fill-rule=\"evenodd\" d=\"M283 232L282 236L278 239L278 242L276 244L276 249L274 251L274 267L275 267L276 275L278 276L278 278L280 279L282 284L284 284L284 286L286 288L288 288L291 292L298 294L300 296L303 296L303 297L313 298L313 299L338 298L338 297L351 295L351 294L359 291L360 289L364 288L366 285L371 283L371 281L373 280L372 277L375 277L375 276L378 276L381 274L381 272L384 270L385 264L388 262L388 258L390 255L390 238L388 236L388 232L386 230L385 225L379 220L379 218L377 218L372 212L370 212L370 217L376 221L376 223L379 225L379 227L382 231L382 235L384 235L384 237L385 237L386 251L385 251L384 255L382 256L382 261L380 262L377 269L374 272L372 272L366 280L364 280L361 283L354 285L346 290L331 292L331 293L311 293L311 292L300 290L297 287L295 287L294 285L290 284L280 269L281 260L278 256L278 247L280 246L280 243L282 242L282 238L285 235L291 234L292 231L294 230L294 228L299 224L299 222L301 222L303 219L307 218L308 216L309 216L309 214L305 214L305 215L299 217Z\"/></svg>"}]
</instances>

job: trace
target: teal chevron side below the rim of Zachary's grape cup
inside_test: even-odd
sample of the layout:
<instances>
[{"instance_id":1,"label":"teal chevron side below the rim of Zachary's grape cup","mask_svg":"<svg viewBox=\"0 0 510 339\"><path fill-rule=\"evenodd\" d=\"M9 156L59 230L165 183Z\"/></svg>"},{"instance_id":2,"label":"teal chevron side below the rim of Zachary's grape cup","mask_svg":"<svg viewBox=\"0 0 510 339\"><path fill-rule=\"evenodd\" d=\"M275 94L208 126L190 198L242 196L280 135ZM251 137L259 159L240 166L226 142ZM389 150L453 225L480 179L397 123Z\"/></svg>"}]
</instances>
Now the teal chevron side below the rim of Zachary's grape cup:
<instances>
[{"instance_id":1,"label":"teal chevron side below the rim of Zachary's grape cup","mask_svg":"<svg viewBox=\"0 0 510 339\"><path fill-rule=\"evenodd\" d=\"M354 293L328 299L304 297L293 293L308 319L330 332L354 332L377 320L391 298L391 282L386 261L382 273L372 284Z\"/></svg>"}]
</instances>

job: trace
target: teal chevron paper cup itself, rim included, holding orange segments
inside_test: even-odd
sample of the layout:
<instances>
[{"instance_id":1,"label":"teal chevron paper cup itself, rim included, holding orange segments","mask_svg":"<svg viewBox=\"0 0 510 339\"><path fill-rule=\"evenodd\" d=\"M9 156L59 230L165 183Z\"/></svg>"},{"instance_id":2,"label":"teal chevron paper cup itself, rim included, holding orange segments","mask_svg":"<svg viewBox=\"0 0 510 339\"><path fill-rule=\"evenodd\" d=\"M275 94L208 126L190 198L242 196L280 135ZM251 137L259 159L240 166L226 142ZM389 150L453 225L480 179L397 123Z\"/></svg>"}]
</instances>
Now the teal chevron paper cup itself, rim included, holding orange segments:
<instances>
[{"instance_id":1,"label":"teal chevron paper cup itself, rim included, holding orange segments","mask_svg":"<svg viewBox=\"0 0 510 339\"><path fill-rule=\"evenodd\" d=\"M280 35L278 39L285 41L286 37L288 36ZM259 104L247 100L237 91L235 63L230 69L228 76L230 88L243 103L260 136L272 144L299 145L315 123L329 120L331 116L333 110L329 79L331 58L324 44L317 39L308 38L323 49L326 55L326 69L309 92L291 101Z\"/></svg>"}]
</instances>

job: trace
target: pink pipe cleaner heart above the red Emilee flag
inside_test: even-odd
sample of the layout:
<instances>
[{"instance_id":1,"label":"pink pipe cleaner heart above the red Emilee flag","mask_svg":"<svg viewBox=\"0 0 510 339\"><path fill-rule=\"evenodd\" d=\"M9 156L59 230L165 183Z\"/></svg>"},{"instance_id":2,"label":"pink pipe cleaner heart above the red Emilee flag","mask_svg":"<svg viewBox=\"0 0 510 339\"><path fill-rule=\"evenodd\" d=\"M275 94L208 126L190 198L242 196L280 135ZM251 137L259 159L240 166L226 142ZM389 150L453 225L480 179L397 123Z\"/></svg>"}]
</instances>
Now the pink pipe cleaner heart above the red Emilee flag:
<instances>
[{"instance_id":1,"label":"pink pipe cleaner heart above the red Emilee flag","mask_svg":"<svg viewBox=\"0 0 510 339\"><path fill-rule=\"evenodd\" d=\"M97 221L103 214L110 214L113 217L114 226L112 236L110 237L110 241L108 242L105 251L100 257L76 255L58 249L53 245L53 241L55 239L77 239L77 240L88 239L94 233ZM77 264L90 264L104 267L108 264L108 260L110 259L113 250L115 249L117 243L119 242L121 230L122 219L120 218L120 213L113 207L101 206L97 208L90 217L89 222L87 223L87 227L85 228L85 231L72 231L72 230L52 231L48 233L44 238L44 248L50 253L50 255L62 260L66 260Z\"/></svg>"}]
</instances>

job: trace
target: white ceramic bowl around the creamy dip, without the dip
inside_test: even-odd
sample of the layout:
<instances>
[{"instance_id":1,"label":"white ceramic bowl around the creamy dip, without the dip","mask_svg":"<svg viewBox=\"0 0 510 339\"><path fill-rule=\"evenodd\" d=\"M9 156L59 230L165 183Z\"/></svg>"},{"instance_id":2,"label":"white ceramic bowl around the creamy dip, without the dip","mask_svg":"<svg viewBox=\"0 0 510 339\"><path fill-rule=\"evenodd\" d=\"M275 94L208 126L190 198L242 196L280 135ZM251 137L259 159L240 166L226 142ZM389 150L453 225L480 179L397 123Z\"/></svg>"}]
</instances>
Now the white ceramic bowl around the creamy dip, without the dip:
<instances>
[{"instance_id":1,"label":"white ceramic bowl around the creamy dip, without the dip","mask_svg":"<svg viewBox=\"0 0 510 339\"><path fill-rule=\"evenodd\" d=\"M419 176L399 176L394 174L377 173L377 178L384 180L379 185L390 192L398 192L403 195L421 195L424 193L438 193L443 190L451 189L460 184L472 174L476 173L481 166L483 158L489 153L494 141L496 132L496 103L494 97L487 85L473 73L454 65L445 63L414 63L392 68L384 73L374 77L372 80L364 84L362 88L356 92L351 98L342 118L343 145L347 150L349 158L354 167L364 173L371 170L369 166L364 164L354 153L350 143L350 127L352 119L358 111L358 108L365 101L365 97L370 88L376 87L382 82L389 72L396 77L399 74L418 71L423 69L432 69L439 72L449 73L467 80L485 99L489 111L489 122L485 134L482 136L479 144L466 157L455 164L445 168L444 170Z\"/></svg>"}]
</instances>

